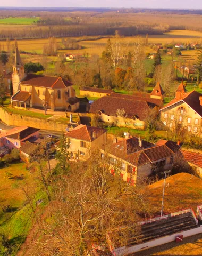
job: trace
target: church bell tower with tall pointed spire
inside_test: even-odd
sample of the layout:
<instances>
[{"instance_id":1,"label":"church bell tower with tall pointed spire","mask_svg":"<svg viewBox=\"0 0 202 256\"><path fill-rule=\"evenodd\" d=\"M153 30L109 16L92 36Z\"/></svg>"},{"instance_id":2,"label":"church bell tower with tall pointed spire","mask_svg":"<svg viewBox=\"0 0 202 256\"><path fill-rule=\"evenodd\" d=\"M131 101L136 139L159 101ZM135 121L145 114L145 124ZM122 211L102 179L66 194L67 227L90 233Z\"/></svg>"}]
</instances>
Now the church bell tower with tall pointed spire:
<instances>
[{"instance_id":1,"label":"church bell tower with tall pointed spire","mask_svg":"<svg viewBox=\"0 0 202 256\"><path fill-rule=\"evenodd\" d=\"M13 82L13 94L20 90L20 82L26 76L24 73L24 66L20 57L20 53L18 47L16 47L15 51L15 61L13 63L13 74L12 74L12 82Z\"/></svg>"}]
</instances>

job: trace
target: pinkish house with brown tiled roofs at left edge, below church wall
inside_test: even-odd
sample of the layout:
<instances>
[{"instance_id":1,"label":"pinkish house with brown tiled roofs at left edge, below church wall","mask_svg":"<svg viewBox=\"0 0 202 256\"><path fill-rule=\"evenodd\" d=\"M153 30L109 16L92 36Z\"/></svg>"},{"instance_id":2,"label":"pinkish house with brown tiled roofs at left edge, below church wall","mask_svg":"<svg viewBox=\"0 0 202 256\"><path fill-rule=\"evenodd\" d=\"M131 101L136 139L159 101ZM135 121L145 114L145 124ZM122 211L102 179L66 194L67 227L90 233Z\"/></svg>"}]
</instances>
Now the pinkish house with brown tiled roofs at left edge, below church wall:
<instances>
[{"instance_id":1,"label":"pinkish house with brown tiled roofs at left edge, below church wall","mask_svg":"<svg viewBox=\"0 0 202 256\"><path fill-rule=\"evenodd\" d=\"M0 134L0 157L9 153L13 148L20 148L30 137L39 137L39 129L21 126Z\"/></svg>"}]
</instances>

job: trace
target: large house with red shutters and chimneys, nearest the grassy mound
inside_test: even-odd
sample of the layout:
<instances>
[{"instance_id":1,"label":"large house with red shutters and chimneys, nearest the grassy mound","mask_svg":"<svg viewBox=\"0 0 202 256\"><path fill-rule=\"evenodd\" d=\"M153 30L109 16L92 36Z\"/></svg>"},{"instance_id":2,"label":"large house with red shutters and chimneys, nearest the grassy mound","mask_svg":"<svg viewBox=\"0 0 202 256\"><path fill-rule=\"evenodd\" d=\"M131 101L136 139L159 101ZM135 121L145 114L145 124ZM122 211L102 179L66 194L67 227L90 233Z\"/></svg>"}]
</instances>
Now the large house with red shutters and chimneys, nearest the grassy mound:
<instances>
[{"instance_id":1,"label":"large house with red shutters and chimneys, nearest the grassy mound","mask_svg":"<svg viewBox=\"0 0 202 256\"><path fill-rule=\"evenodd\" d=\"M167 140L153 143L125 133L125 139L113 140L110 148L101 149L101 157L111 163L111 174L120 175L124 181L136 185L159 168L169 170L180 145Z\"/></svg>"}]
</instances>

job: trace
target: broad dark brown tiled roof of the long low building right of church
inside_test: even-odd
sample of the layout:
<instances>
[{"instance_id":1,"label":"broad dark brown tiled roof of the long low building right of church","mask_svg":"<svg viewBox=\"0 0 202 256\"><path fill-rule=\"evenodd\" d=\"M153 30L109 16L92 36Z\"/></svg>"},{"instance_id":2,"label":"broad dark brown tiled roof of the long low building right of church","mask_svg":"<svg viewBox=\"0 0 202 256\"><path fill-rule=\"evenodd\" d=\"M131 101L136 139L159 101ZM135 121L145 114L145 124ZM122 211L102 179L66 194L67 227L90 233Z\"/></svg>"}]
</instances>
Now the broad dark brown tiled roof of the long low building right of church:
<instances>
[{"instance_id":1,"label":"broad dark brown tiled roof of the long low building right of church","mask_svg":"<svg viewBox=\"0 0 202 256\"><path fill-rule=\"evenodd\" d=\"M136 117L144 121L154 107L147 101L105 96L92 103L90 112L102 111L105 115L116 116L117 109L124 109L128 118Z\"/></svg>"}]
</instances>

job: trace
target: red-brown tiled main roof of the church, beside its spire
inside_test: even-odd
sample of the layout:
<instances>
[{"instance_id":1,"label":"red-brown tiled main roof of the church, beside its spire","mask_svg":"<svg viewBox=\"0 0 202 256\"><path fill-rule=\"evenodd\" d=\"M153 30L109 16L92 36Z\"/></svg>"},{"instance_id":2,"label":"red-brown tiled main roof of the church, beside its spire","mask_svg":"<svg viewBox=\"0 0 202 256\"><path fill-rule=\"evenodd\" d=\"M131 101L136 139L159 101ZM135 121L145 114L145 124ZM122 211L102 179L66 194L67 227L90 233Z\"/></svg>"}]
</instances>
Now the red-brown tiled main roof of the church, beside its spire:
<instances>
[{"instance_id":1,"label":"red-brown tiled main roof of the church, beside its spire","mask_svg":"<svg viewBox=\"0 0 202 256\"><path fill-rule=\"evenodd\" d=\"M45 87L50 89L60 89L71 86L72 83L62 77L58 76L43 76L28 74L20 84L33 85L37 87Z\"/></svg>"}]
</instances>

